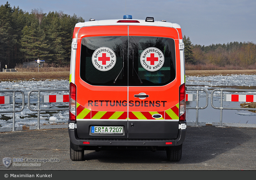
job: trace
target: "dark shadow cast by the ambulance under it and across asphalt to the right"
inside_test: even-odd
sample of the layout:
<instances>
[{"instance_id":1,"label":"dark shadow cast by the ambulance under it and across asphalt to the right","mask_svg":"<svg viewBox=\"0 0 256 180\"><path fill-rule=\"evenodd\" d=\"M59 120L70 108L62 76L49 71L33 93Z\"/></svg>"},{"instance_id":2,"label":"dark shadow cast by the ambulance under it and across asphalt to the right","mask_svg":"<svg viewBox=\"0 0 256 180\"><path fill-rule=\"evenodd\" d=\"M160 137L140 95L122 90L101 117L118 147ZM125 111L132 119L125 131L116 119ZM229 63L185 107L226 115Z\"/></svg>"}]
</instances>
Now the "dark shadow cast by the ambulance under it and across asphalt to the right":
<instances>
[{"instance_id":1,"label":"dark shadow cast by the ambulance under it and across asphalt to the right","mask_svg":"<svg viewBox=\"0 0 256 180\"><path fill-rule=\"evenodd\" d=\"M189 126L182 158L178 162L168 161L165 151L144 150L85 151L84 160L97 159L102 163L202 163L247 142L252 137L246 131L245 128L234 127Z\"/></svg>"}]
</instances>

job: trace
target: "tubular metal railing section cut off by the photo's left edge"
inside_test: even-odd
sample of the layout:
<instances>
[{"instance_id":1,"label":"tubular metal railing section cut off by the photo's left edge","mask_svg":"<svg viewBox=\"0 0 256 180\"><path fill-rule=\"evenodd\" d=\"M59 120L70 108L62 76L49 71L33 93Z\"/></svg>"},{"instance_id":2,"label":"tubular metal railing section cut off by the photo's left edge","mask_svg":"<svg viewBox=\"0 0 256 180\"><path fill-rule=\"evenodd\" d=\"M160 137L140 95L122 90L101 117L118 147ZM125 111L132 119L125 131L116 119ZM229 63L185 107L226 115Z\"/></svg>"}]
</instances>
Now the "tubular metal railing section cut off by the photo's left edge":
<instances>
[{"instance_id":1,"label":"tubular metal railing section cut off by the photo's left edge","mask_svg":"<svg viewBox=\"0 0 256 180\"><path fill-rule=\"evenodd\" d=\"M0 92L13 92L13 110L4 110L0 111L0 113L13 113L13 131L15 131L15 112L23 111L25 107L25 94L22 90L0 90ZM22 94L22 107L19 110L15 110L16 92L20 92Z\"/></svg>"}]
</instances>

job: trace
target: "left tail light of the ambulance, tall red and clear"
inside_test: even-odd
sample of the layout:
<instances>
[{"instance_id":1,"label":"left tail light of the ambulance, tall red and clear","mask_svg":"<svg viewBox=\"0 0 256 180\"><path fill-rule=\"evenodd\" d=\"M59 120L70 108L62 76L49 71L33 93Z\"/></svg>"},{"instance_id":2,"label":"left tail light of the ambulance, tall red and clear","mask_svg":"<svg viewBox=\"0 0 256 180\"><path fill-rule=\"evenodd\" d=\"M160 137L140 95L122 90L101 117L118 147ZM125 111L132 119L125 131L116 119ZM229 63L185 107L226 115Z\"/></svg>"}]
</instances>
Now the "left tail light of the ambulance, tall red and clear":
<instances>
[{"instance_id":1,"label":"left tail light of the ambulance, tall red and clear","mask_svg":"<svg viewBox=\"0 0 256 180\"><path fill-rule=\"evenodd\" d=\"M69 84L69 120L76 120L76 85Z\"/></svg>"}]
</instances>

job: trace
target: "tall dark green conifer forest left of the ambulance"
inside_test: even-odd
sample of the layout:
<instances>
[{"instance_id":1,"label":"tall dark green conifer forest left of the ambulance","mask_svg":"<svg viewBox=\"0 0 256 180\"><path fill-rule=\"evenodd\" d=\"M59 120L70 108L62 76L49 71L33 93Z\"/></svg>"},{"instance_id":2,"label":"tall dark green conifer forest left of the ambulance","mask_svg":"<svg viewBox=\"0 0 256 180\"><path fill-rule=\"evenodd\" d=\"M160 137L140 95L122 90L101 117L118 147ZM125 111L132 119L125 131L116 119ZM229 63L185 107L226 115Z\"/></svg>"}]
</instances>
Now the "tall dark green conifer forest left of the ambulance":
<instances>
[{"instance_id":1,"label":"tall dark green conifer forest left of the ambulance","mask_svg":"<svg viewBox=\"0 0 256 180\"><path fill-rule=\"evenodd\" d=\"M62 11L31 13L7 3L0 6L0 63L14 68L23 62L46 60L63 66L69 64L74 26L82 17Z\"/></svg>"}]
</instances>

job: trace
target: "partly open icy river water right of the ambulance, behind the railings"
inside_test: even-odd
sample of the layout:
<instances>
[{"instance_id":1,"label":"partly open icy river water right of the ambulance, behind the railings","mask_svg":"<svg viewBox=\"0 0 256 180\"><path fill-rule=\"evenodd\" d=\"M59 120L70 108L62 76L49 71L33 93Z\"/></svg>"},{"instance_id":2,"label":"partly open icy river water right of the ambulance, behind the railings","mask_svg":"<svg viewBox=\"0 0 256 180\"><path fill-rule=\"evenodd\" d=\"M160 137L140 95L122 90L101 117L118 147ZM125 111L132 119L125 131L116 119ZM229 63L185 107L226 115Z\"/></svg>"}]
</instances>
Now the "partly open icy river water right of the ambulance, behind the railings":
<instances>
[{"instance_id":1,"label":"partly open icy river water right of the ambulance, behind the railings","mask_svg":"<svg viewBox=\"0 0 256 180\"><path fill-rule=\"evenodd\" d=\"M220 110L213 109L210 104L211 92L217 88L229 89L250 89L255 92L239 92L239 94L256 94L256 75L215 75L215 76L187 76L186 86L188 89L205 89L208 92L208 107L206 109L198 110L199 122L220 122ZM187 91L187 94L195 94L195 91ZM237 92L225 92L225 94L234 94ZM195 107L196 101L187 101L188 107ZM223 107L236 107L240 108L241 102L225 102ZM199 107L206 105L205 93L200 91L199 94ZM215 91L213 98L213 105L220 107L220 91ZM195 109L187 109L186 111L187 122L195 122L196 114ZM230 123L247 123L256 124L256 113L247 110L223 110L222 122Z\"/></svg>"}]
</instances>

